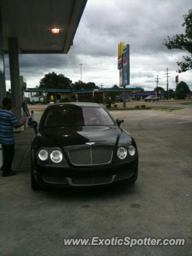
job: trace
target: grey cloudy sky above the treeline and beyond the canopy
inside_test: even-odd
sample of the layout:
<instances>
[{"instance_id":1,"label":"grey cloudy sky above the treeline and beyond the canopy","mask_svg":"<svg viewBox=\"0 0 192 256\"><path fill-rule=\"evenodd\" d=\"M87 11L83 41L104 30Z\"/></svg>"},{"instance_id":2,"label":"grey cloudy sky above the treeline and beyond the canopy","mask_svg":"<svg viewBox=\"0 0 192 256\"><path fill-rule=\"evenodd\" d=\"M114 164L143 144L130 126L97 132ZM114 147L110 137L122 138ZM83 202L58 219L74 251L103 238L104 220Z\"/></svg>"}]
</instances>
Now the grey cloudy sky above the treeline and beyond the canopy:
<instances>
[{"instance_id":1,"label":"grey cloudy sky above the treeline and beyond the canopy","mask_svg":"<svg viewBox=\"0 0 192 256\"><path fill-rule=\"evenodd\" d=\"M168 35L185 31L183 15L192 9L191 0L88 0L77 29L74 45L66 54L22 54L20 75L27 78L28 87L35 87L44 74L56 72L73 83L82 81L111 87L119 84L117 69L118 42L130 44L130 87L153 90L154 78L162 78L159 86L166 88L166 68L169 68L170 88L175 89L177 61L186 52L167 50L162 45ZM6 84L10 88L9 61L5 57ZM192 70L179 74L192 90Z\"/></svg>"}]
</instances>

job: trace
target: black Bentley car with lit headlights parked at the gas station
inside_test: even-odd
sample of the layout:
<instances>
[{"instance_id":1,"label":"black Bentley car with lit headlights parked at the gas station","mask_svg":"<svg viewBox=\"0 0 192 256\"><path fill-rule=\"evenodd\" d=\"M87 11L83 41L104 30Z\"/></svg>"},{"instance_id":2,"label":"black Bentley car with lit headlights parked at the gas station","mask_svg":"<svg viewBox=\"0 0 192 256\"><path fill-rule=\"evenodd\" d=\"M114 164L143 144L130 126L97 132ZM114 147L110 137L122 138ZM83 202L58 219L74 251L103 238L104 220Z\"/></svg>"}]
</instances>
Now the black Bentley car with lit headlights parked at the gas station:
<instances>
[{"instance_id":1,"label":"black Bentley car with lit headlights parked at the gas station","mask_svg":"<svg viewBox=\"0 0 192 256\"><path fill-rule=\"evenodd\" d=\"M48 106L31 124L32 189L137 180L137 146L122 122L97 103Z\"/></svg>"}]
</instances>

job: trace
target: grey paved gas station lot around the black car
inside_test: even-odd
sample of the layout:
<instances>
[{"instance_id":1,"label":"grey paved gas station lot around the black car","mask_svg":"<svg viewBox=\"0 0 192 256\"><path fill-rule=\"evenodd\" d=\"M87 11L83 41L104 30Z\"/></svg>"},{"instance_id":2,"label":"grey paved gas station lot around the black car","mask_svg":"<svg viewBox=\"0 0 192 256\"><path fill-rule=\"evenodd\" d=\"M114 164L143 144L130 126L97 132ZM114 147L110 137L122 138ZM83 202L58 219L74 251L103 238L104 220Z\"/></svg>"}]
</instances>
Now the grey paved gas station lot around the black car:
<instances>
[{"instance_id":1,"label":"grey paved gas station lot around the black car","mask_svg":"<svg viewBox=\"0 0 192 256\"><path fill-rule=\"evenodd\" d=\"M111 113L124 118L122 127L137 141L135 185L34 192L28 148L33 131L17 134L18 174L0 177L1 255L192 255L191 109ZM63 238L92 236L179 237L186 245L63 245Z\"/></svg>"}]
</instances>

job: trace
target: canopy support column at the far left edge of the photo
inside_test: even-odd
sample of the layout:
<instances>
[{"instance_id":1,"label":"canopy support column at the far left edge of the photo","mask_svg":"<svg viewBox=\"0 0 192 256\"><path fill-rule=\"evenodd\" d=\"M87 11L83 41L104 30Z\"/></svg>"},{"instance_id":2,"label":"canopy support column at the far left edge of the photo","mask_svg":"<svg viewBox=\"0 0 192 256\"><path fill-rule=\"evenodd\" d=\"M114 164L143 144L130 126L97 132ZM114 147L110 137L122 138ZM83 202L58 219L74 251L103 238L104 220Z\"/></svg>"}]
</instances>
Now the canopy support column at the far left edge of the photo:
<instances>
[{"instance_id":1,"label":"canopy support column at the far left edge of the photo","mask_svg":"<svg viewBox=\"0 0 192 256\"><path fill-rule=\"evenodd\" d=\"M3 20L2 9L0 6L0 106L3 98L6 97L6 83L5 83L5 62L4 62L4 48L3 48Z\"/></svg>"}]
</instances>

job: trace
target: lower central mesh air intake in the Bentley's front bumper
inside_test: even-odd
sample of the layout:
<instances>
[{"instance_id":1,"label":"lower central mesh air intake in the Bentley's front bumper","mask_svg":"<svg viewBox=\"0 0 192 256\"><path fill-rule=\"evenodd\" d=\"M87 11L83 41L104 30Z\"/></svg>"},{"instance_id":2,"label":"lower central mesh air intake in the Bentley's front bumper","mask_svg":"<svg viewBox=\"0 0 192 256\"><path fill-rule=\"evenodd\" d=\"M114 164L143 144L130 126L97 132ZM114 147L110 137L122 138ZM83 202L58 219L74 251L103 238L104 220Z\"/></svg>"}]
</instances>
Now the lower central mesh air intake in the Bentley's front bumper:
<instances>
[{"instance_id":1,"label":"lower central mesh air intake in the Bentley's front bumper","mask_svg":"<svg viewBox=\"0 0 192 256\"><path fill-rule=\"evenodd\" d=\"M71 178L73 185L78 186L89 186L89 185L100 185L111 182L112 176L106 177L93 177L93 178Z\"/></svg>"}]
</instances>

